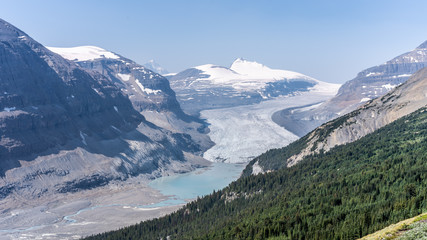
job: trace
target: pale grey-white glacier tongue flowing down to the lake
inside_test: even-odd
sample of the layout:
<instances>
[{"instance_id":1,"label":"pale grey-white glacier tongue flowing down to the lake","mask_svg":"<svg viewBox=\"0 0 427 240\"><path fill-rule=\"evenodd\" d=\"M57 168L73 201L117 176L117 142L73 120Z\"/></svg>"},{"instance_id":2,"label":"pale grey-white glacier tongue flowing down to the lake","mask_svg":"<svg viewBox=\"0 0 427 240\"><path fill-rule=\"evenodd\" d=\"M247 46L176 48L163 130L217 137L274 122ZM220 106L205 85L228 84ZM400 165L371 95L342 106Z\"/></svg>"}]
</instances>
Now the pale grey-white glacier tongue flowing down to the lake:
<instances>
[{"instance_id":1,"label":"pale grey-white glacier tongue flowing down to the lake","mask_svg":"<svg viewBox=\"0 0 427 240\"><path fill-rule=\"evenodd\" d=\"M284 147L298 137L273 122L273 113L330 97L325 92L307 92L254 105L202 111L201 117L210 124L208 135L216 144L203 157L212 162L241 163L268 149Z\"/></svg>"}]
</instances>

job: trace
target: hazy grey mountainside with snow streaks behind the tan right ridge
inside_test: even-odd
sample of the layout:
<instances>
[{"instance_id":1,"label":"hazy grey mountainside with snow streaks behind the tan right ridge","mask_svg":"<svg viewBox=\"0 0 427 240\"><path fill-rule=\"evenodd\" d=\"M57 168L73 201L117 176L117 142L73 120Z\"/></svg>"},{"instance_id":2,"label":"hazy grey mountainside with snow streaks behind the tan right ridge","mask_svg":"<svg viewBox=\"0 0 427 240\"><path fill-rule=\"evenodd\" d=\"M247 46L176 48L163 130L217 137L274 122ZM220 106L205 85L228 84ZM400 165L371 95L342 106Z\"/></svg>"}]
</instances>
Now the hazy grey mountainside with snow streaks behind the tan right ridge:
<instances>
[{"instance_id":1,"label":"hazy grey mountainside with snow streaks behind the tan right ridge","mask_svg":"<svg viewBox=\"0 0 427 240\"><path fill-rule=\"evenodd\" d=\"M427 67L427 41L410 52L361 71L343 84L329 101L306 109L285 109L273 118L281 126L303 136L322 123L383 96L424 67Z\"/></svg>"}]
</instances>

